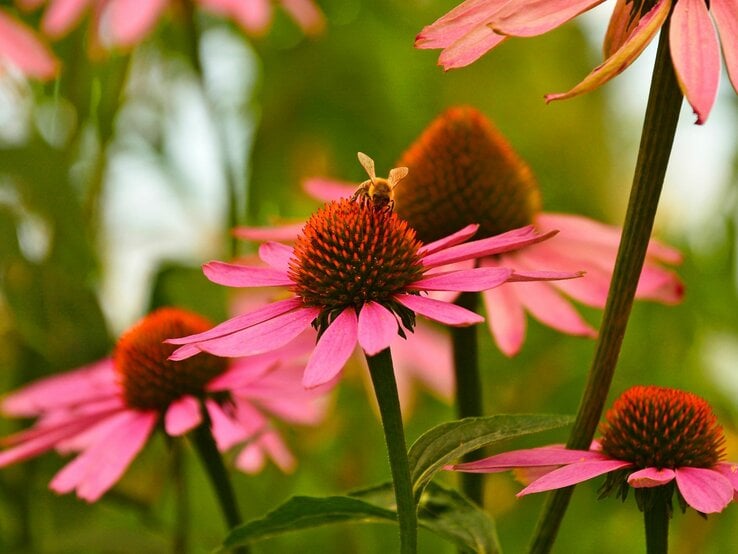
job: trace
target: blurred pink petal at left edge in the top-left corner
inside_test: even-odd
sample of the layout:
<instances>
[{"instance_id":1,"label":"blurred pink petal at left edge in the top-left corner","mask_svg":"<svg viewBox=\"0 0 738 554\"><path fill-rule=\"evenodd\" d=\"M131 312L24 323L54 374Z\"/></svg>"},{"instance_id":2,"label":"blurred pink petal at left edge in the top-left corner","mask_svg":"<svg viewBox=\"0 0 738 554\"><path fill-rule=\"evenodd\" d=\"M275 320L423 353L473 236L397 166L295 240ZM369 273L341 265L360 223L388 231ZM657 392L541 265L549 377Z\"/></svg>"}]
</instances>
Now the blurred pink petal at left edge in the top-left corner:
<instances>
[{"instance_id":1,"label":"blurred pink petal at left edge in the top-left corner","mask_svg":"<svg viewBox=\"0 0 738 554\"><path fill-rule=\"evenodd\" d=\"M0 10L0 58L7 59L24 75L53 78L59 60L39 37L17 19Z\"/></svg>"}]
</instances>

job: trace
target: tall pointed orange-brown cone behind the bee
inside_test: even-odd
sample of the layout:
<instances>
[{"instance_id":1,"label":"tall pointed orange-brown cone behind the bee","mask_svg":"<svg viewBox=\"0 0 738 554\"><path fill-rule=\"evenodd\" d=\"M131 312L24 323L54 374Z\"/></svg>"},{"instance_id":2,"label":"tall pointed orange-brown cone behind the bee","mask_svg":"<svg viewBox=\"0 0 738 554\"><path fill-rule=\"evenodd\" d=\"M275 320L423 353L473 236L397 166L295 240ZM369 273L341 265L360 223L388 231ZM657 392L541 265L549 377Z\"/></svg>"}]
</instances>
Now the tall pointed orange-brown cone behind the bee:
<instances>
[{"instance_id":1,"label":"tall pointed orange-brown cone behind the bee","mask_svg":"<svg viewBox=\"0 0 738 554\"><path fill-rule=\"evenodd\" d=\"M405 152L408 176L394 191L395 211L423 242L470 223L485 238L533 222L540 211L530 167L473 108L441 114Z\"/></svg>"}]
</instances>

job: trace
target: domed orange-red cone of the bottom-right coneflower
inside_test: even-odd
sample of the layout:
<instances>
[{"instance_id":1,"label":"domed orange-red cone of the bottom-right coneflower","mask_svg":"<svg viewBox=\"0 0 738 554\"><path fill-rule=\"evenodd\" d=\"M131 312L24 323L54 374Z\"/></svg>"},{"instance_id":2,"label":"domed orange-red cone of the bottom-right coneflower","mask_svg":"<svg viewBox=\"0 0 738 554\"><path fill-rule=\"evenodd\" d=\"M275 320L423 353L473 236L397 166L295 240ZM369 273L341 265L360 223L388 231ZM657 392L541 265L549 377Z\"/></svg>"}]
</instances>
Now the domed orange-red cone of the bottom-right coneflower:
<instances>
[{"instance_id":1,"label":"domed orange-red cone of the bottom-right coneflower","mask_svg":"<svg viewBox=\"0 0 738 554\"><path fill-rule=\"evenodd\" d=\"M725 436L710 405L689 392L633 387L605 419L602 451L638 468L712 467L724 454Z\"/></svg>"}]
</instances>

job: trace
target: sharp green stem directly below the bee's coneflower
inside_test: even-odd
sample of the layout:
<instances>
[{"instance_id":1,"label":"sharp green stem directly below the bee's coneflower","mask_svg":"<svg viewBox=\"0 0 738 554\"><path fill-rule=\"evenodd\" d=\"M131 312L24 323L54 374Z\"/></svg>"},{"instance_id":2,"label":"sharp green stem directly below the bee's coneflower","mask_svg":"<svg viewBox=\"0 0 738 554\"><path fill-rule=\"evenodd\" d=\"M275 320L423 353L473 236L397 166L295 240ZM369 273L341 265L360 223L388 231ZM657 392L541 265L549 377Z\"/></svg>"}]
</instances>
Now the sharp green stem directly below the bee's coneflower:
<instances>
[{"instance_id":1,"label":"sharp green stem directly below the bee's coneflower","mask_svg":"<svg viewBox=\"0 0 738 554\"><path fill-rule=\"evenodd\" d=\"M392 482L395 487L397 519L400 524L400 552L414 554L418 548L418 517L415 498L413 498L410 464L407 459L405 432L402 428L402 413L400 399L397 395L392 355L389 348L386 348L375 356L367 356L366 361L372 377L374 393L377 396L379 413L382 416Z\"/></svg>"}]
</instances>

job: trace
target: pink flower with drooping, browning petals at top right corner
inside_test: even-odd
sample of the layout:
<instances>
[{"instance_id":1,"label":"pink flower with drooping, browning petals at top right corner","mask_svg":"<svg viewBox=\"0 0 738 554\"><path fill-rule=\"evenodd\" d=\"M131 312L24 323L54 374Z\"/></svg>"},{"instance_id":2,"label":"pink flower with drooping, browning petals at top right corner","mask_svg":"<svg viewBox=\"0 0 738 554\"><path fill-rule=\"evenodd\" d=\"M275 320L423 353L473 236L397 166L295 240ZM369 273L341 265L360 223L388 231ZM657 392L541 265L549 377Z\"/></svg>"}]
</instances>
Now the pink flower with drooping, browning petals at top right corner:
<instances>
[{"instance_id":1,"label":"pink flower with drooping, browning petals at top right corner","mask_svg":"<svg viewBox=\"0 0 738 554\"><path fill-rule=\"evenodd\" d=\"M468 65L508 37L547 33L603 0L466 0L417 36L417 48L442 48L444 69ZM679 86L704 123L720 77L720 43L738 91L737 0L617 0L605 36L605 60L581 83L547 101L589 92L622 73L657 31L669 23L671 58ZM717 27L717 33L716 28ZM718 42L718 33L719 40Z\"/></svg>"}]
</instances>

